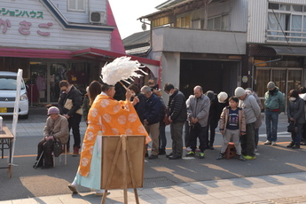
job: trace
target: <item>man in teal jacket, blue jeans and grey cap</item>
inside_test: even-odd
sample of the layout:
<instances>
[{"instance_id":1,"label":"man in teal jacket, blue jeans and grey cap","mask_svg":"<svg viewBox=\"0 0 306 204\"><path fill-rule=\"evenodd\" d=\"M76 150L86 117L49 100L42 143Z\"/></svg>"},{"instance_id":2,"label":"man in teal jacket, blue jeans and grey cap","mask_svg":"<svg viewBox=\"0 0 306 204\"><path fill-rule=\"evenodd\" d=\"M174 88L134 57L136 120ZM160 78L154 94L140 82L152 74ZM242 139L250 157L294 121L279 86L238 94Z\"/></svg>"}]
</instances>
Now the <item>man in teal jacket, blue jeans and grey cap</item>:
<instances>
[{"instance_id":1,"label":"man in teal jacket, blue jeans and grey cap","mask_svg":"<svg viewBox=\"0 0 306 204\"><path fill-rule=\"evenodd\" d=\"M268 82L267 89L268 91L264 94L264 116L267 141L265 141L264 145L276 145L279 114L285 107L285 99L274 82Z\"/></svg>"}]
</instances>

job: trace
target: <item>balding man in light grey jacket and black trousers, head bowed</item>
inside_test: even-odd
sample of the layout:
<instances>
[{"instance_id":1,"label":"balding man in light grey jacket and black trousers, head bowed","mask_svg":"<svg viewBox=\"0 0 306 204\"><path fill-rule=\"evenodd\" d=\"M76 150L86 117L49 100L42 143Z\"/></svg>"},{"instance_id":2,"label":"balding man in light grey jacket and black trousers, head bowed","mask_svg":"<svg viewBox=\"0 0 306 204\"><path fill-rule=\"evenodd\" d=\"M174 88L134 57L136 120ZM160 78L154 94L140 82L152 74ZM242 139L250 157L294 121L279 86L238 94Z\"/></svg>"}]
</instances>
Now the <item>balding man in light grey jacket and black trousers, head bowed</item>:
<instances>
[{"instance_id":1,"label":"balding man in light grey jacket and black trousers, head bowed","mask_svg":"<svg viewBox=\"0 0 306 204\"><path fill-rule=\"evenodd\" d=\"M196 86L193 89L194 95L191 95L187 101L187 116L190 127L189 142L192 151L186 156L194 156L197 145L197 138L200 139L200 159L204 158L204 151L207 147L208 140L208 116L210 99L203 94L203 89Z\"/></svg>"}]
</instances>

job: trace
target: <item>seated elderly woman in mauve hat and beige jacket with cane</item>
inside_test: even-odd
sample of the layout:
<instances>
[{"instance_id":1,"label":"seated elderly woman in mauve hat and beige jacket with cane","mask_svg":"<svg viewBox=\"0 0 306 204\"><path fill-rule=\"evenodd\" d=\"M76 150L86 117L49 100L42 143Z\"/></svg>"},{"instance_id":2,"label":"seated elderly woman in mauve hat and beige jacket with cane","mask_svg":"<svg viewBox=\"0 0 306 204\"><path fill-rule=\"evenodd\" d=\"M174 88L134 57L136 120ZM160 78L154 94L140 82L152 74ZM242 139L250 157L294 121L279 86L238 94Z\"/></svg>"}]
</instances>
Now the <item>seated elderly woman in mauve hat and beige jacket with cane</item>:
<instances>
[{"instance_id":1,"label":"seated elderly woman in mauve hat and beige jacket with cane","mask_svg":"<svg viewBox=\"0 0 306 204\"><path fill-rule=\"evenodd\" d=\"M53 167L53 142L59 139L62 145L67 144L69 128L67 119L59 114L59 108L51 106L48 109L46 125L43 128L43 139L38 143L38 153L34 168L42 167L49 169Z\"/></svg>"}]
</instances>

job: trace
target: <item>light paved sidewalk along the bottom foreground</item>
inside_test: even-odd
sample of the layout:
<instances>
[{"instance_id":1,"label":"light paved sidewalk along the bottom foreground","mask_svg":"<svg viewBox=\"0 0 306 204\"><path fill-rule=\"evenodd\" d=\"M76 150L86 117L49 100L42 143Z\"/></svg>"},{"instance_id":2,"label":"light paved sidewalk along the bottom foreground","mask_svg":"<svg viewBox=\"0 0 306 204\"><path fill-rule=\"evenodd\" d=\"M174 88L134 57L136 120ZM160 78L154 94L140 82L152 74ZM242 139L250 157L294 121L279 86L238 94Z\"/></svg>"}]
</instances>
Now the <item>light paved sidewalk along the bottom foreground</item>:
<instances>
[{"instance_id":1,"label":"light paved sidewalk along the bottom foreground","mask_svg":"<svg viewBox=\"0 0 306 204\"><path fill-rule=\"evenodd\" d=\"M192 182L170 187L137 189L140 203L306 203L306 173L291 173L263 177L241 177ZM111 190L106 203L123 203L123 191ZM94 192L64 194L22 200L5 200L0 204L30 203L100 203ZM132 189L129 203L135 202Z\"/></svg>"}]
</instances>

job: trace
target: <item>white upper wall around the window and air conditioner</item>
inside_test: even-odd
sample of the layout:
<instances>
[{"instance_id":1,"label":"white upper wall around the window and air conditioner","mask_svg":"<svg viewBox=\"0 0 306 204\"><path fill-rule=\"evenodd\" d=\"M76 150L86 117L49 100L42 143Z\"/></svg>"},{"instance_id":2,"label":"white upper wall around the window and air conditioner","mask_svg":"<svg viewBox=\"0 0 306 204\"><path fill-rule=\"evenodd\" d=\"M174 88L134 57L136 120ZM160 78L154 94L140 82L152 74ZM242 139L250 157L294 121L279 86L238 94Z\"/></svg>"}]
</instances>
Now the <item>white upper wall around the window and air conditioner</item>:
<instances>
[{"instance_id":1,"label":"white upper wall around the window and air conditioner","mask_svg":"<svg viewBox=\"0 0 306 204\"><path fill-rule=\"evenodd\" d=\"M54 4L59 9L68 22L90 23L90 12L106 13L106 0L85 0L85 12L68 11L67 1L50 0L51 4Z\"/></svg>"}]
</instances>

